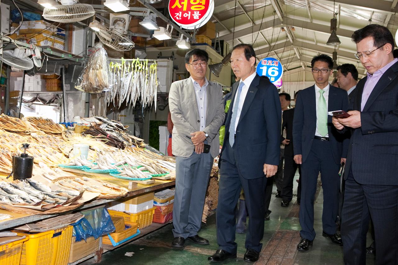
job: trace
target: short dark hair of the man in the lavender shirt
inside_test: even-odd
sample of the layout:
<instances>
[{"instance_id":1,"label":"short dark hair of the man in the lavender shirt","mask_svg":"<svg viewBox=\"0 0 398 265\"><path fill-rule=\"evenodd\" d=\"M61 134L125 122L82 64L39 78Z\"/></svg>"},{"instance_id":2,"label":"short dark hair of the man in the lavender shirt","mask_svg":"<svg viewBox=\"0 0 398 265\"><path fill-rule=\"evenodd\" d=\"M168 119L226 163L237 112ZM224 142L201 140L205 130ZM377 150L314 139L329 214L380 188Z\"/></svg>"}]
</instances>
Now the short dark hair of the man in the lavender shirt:
<instances>
[{"instance_id":1,"label":"short dark hair of the man in the lavender shirt","mask_svg":"<svg viewBox=\"0 0 398 265\"><path fill-rule=\"evenodd\" d=\"M359 43L367 37L373 38L373 46L380 47L384 44L390 43L394 49L394 37L390 30L382 25L370 24L366 27L354 31L351 39L355 43Z\"/></svg>"}]
</instances>

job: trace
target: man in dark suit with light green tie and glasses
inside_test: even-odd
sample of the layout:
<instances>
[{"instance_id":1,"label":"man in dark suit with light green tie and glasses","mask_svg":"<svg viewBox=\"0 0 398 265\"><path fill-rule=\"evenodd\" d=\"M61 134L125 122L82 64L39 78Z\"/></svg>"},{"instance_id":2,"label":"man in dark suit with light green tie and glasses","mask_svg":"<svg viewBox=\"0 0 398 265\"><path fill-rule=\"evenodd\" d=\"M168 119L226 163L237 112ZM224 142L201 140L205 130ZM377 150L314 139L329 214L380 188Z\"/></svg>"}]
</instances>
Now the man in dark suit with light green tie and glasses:
<instances>
[{"instance_id":1,"label":"man in dark suit with light green tie and glasses","mask_svg":"<svg viewBox=\"0 0 398 265\"><path fill-rule=\"evenodd\" d=\"M329 77L333 60L328 55L312 58L312 75L315 85L298 94L293 118L294 160L301 164L301 241L298 250L308 250L315 238L314 196L318 174L321 173L324 203L322 235L341 245L336 233L339 206L339 165L347 154L345 134L339 134L332 125L328 111L347 110L347 92L330 86ZM345 142L345 146L343 146Z\"/></svg>"}]
</instances>

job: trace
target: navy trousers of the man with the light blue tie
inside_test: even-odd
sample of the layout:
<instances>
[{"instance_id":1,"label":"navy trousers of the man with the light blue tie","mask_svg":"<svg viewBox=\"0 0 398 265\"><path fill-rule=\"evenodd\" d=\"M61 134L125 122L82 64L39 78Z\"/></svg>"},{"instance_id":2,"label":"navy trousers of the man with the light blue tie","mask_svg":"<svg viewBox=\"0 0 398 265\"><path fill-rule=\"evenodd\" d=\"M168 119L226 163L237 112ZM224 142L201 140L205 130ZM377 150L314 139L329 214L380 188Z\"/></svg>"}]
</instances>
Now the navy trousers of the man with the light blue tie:
<instances>
[{"instance_id":1,"label":"navy trousers of the man with the light blue tie","mask_svg":"<svg viewBox=\"0 0 398 265\"><path fill-rule=\"evenodd\" d=\"M245 179L239 173L235 160L235 150L226 143L220 164L219 202L217 206L217 244L220 249L236 253L235 243L235 206L243 188L249 224L245 247L261 251L260 243L264 234L264 190L267 179L259 176L256 179Z\"/></svg>"}]
</instances>

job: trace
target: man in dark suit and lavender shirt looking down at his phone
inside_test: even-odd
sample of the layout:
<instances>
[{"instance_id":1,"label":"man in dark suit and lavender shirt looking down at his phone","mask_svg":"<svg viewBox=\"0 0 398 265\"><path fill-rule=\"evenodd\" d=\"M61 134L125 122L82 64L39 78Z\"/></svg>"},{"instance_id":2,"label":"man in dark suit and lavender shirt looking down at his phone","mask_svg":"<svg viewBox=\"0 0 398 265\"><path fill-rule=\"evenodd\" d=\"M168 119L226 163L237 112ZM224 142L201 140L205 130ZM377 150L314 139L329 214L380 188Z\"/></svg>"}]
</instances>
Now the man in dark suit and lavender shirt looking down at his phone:
<instances>
[{"instance_id":1,"label":"man in dark suit and lavender shirt looking down at his phone","mask_svg":"<svg viewBox=\"0 0 398 265\"><path fill-rule=\"evenodd\" d=\"M386 27L371 24L355 31L355 57L367 69L346 119L333 119L351 130L345 166L341 236L346 265L365 264L366 232L373 220L377 265L398 264L398 59Z\"/></svg>"}]
</instances>

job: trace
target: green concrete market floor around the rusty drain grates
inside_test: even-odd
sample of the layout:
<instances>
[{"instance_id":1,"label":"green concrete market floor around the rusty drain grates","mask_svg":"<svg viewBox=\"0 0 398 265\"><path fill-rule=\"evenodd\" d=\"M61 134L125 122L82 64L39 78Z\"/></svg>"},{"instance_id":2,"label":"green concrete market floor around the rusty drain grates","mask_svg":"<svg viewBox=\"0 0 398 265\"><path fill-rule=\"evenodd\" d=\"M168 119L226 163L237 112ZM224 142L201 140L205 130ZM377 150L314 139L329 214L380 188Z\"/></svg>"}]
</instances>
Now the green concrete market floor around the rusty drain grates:
<instances>
[{"instance_id":1,"label":"green concrete market floor around the rusty drain grates","mask_svg":"<svg viewBox=\"0 0 398 265\"><path fill-rule=\"evenodd\" d=\"M296 176L297 178L298 176ZM294 191L296 194L297 183L294 181ZM276 187L274 185L274 192ZM323 193L320 190L316 203L314 205L314 228L316 231L316 238L314 245L310 251L298 252L295 251L294 263L292 265L343 265L343 249L340 246L334 245L329 239L322 237L322 202ZM266 247L267 242L275 234L277 230L300 230L300 223L296 217L288 217L292 207L296 203L296 197L293 197L293 201L289 207L284 208L280 206L281 199L272 196L270 209L272 213L270 215L271 220L265 221L265 231L263 238L263 249ZM84 265L91 264L148 264L148 265L202 265L212 264L207 261L207 257L213 255L217 250L217 239L216 239L216 225L215 225L215 214L210 216L207 220L207 224L203 224L199 235L207 238L210 241L208 246L199 246L187 241L186 246L183 249L176 249L170 246L173 239L172 235L172 224L168 224L163 228L148 234L127 244L119 247L113 251L104 253L102 261L100 263L94 263L93 259L88 260ZM368 233L368 244L371 243L370 233ZM236 242L238 243L238 258L235 260L227 260L222 264L248 264L243 261L243 255L246 251L244 248L246 234L236 234ZM293 246L294 247L294 246ZM294 251L294 249L293 249ZM134 252L130 257L125 255L128 252ZM367 265L374 265L374 256L367 256ZM280 262L272 261L270 259L268 263L261 264L280 264ZM284 263L289 264L289 263Z\"/></svg>"}]
</instances>

